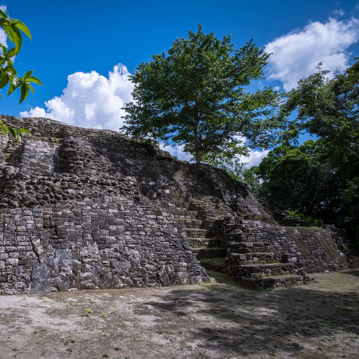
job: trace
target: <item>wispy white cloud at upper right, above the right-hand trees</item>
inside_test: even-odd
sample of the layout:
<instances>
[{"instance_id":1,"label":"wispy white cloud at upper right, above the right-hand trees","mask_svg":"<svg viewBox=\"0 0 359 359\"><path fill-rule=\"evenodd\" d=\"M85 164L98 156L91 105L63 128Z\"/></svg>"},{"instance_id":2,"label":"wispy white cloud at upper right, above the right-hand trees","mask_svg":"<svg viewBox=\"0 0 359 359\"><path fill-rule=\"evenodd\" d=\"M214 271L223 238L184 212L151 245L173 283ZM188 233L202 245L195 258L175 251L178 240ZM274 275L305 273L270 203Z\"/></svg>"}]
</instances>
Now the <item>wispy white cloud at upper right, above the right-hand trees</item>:
<instances>
[{"instance_id":1,"label":"wispy white cloud at upper right, above the right-hand trees","mask_svg":"<svg viewBox=\"0 0 359 359\"><path fill-rule=\"evenodd\" d=\"M340 14L339 14L340 15ZM283 82L285 90L297 85L298 80L315 71L318 62L323 69L345 70L351 53L348 47L359 40L359 19L311 22L304 29L296 29L266 45L270 79Z\"/></svg>"}]
</instances>

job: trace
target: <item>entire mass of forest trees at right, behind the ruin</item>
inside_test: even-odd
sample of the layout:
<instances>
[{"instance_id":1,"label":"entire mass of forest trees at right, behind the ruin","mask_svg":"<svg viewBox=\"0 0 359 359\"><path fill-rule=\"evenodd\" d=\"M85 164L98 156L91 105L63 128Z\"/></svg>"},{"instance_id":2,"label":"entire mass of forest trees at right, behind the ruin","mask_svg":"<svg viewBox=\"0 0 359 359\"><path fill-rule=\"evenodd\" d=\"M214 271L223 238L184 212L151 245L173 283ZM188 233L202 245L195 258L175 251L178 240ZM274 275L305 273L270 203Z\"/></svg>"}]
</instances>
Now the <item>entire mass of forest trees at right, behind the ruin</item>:
<instances>
[{"instance_id":1,"label":"entire mass of forest trees at right, behind the ruin","mask_svg":"<svg viewBox=\"0 0 359 359\"><path fill-rule=\"evenodd\" d=\"M359 61L331 80L318 71L285 94L281 144L250 169L230 174L289 215L334 224L359 241ZM292 114L292 116L290 116ZM307 132L316 140L298 144Z\"/></svg>"}]
</instances>

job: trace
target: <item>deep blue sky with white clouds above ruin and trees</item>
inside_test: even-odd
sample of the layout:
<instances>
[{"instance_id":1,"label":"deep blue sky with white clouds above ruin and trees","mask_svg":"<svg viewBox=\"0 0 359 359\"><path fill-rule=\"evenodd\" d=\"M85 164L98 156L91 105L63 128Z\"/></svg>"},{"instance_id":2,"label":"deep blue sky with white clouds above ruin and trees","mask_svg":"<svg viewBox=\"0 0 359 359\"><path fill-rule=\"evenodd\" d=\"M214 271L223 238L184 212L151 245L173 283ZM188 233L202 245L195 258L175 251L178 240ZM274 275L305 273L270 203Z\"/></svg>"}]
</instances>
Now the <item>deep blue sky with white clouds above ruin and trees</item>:
<instances>
[{"instance_id":1,"label":"deep blue sky with white clouds above ruin and trees","mask_svg":"<svg viewBox=\"0 0 359 359\"><path fill-rule=\"evenodd\" d=\"M273 52L272 85L289 90L323 61L344 70L359 56L358 1L1 1L32 33L15 60L20 75L35 70L43 87L18 105L19 93L1 92L0 113L51 117L72 125L117 130L131 100L127 75L167 51L201 23L216 37L232 34L234 48L253 38ZM101 6L100 6L101 5ZM4 39L4 36L0 40ZM9 45L9 44L8 44ZM181 148L166 148L188 159ZM265 152L253 151L251 164Z\"/></svg>"}]
</instances>

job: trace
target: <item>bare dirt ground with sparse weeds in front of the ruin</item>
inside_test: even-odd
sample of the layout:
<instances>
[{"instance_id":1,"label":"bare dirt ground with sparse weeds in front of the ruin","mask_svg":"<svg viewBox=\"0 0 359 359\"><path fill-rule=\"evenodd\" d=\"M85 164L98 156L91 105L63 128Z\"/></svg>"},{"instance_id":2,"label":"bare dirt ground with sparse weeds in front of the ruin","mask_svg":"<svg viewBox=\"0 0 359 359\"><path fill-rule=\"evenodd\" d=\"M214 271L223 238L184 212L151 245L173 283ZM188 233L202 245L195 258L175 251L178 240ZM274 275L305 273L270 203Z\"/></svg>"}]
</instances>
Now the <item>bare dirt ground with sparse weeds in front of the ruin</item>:
<instances>
[{"instance_id":1,"label":"bare dirt ground with sparse weeds in front of the ruin","mask_svg":"<svg viewBox=\"0 0 359 359\"><path fill-rule=\"evenodd\" d=\"M0 358L359 358L358 270L273 291L209 274L206 285L2 296Z\"/></svg>"}]
</instances>

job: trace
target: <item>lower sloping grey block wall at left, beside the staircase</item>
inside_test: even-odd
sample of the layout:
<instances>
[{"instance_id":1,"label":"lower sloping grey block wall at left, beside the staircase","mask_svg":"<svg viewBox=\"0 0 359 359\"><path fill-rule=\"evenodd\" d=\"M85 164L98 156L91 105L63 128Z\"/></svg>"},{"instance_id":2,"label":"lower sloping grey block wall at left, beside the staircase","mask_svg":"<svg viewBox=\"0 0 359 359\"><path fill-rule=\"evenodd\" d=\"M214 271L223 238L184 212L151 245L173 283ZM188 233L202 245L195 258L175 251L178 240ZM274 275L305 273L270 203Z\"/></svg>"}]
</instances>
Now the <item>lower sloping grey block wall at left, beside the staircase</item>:
<instances>
[{"instance_id":1,"label":"lower sloping grey block wall at left, beside the staircase","mask_svg":"<svg viewBox=\"0 0 359 359\"><path fill-rule=\"evenodd\" d=\"M208 280L168 213L123 197L1 209L0 223L4 294Z\"/></svg>"}]
</instances>

